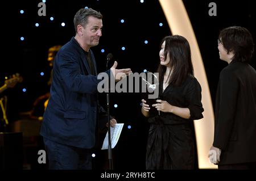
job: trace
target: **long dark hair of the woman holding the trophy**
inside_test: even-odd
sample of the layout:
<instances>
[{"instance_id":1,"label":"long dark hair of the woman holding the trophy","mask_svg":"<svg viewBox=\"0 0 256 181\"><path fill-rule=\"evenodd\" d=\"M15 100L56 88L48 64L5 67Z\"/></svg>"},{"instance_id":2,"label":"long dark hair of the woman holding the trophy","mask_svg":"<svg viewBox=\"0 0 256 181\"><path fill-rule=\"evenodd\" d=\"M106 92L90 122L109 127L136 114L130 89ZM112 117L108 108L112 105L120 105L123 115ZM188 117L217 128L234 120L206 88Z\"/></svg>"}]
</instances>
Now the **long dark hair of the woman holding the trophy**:
<instances>
[{"instance_id":1,"label":"long dark hair of the woman holding the trophy","mask_svg":"<svg viewBox=\"0 0 256 181\"><path fill-rule=\"evenodd\" d=\"M167 55L170 56L171 77L168 75L169 82L175 86L180 86L185 81L185 78L189 74L193 75L193 65L191 61L191 51L188 40L183 36L174 35L166 36L161 41L160 46L166 41L164 47L164 58L166 60ZM159 81L164 79L164 73L166 72L166 66L159 64L157 72L159 73Z\"/></svg>"}]
</instances>

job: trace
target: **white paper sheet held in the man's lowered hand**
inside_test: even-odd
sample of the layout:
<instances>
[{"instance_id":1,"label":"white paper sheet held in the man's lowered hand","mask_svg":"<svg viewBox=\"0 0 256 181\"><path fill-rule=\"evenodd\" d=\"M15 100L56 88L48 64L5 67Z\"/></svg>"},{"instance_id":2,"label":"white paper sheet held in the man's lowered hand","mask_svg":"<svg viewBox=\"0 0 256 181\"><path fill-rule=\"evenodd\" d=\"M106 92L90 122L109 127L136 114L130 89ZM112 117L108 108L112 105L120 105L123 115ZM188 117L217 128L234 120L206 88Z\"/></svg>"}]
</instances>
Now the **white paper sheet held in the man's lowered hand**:
<instances>
[{"instance_id":1,"label":"white paper sheet held in the man's lowered hand","mask_svg":"<svg viewBox=\"0 0 256 181\"><path fill-rule=\"evenodd\" d=\"M122 129L123 129L123 123L115 124L114 128L110 127L111 148L114 148L115 145L117 145ZM109 133L107 132L101 149L106 150L108 149L108 147L109 147Z\"/></svg>"}]
</instances>

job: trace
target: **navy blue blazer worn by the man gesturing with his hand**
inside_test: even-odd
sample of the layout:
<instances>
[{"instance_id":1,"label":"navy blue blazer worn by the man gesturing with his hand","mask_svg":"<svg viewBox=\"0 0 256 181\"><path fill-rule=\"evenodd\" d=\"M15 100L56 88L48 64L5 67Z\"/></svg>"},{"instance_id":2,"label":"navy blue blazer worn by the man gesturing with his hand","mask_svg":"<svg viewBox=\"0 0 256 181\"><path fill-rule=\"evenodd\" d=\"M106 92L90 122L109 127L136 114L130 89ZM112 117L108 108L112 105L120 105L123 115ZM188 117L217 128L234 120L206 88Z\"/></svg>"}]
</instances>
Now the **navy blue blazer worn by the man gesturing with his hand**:
<instances>
[{"instance_id":1,"label":"navy blue blazer worn by the man gesturing with his hand","mask_svg":"<svg viewBox=\"0 0 256 181\"><path fill-rule=\"evenodd\" d=\"M104 110L98 107L97 85L101 80L91 74L83 51L72 37L57 53L51 97L44 112L40 134L64 145L89 149L96 142L98 110ZM97 73L92 50L90 53ZM110 70L106 73L110 76Z\"/></svg>"}]
</instances>

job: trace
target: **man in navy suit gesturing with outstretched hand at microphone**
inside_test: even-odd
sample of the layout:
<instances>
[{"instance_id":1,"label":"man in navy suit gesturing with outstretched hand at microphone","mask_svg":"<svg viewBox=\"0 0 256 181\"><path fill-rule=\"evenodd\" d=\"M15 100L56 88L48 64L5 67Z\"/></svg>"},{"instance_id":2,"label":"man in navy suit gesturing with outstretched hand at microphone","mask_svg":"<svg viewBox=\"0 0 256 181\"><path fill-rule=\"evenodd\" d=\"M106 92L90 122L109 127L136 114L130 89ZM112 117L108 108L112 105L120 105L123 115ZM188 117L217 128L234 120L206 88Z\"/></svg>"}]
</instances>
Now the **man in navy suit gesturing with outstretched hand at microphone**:
<instances>
[{"instance_id":1,"label":"man in navy suit gesturing with outstretched hand at microphone","mask_svg":"<svg viewBox=\"0 0 256 181\"><path fill-rule=\"evenodd\" d=\"M76 36L55 57L51 96L40 132L49 169L92 169L90 149L96 143L98 115L104 112L98 106L97 85L101 80L90 50L102 36L102 15L92 9L80 9L74 25ZM115 81L131 72L116 67L117 62L106 71ZM115 119L110 120L112 127L115 123Z\"/></svg>"}]
</instances>

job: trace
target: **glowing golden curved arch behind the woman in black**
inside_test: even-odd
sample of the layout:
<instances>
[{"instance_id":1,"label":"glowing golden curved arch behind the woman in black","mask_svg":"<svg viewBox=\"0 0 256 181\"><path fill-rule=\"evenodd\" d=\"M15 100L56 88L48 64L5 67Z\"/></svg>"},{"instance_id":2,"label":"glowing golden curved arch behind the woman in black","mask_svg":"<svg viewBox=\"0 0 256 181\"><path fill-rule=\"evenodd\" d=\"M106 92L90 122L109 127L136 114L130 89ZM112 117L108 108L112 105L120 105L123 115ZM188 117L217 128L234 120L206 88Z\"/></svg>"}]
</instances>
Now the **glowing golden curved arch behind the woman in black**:
<instances>
[{"instance_id":1,"label":"glowing golden curved arch behind the woman in black","mask_svg":"<svg viewBox=\"0 0 256 181\"><path fill-rule=\"evenodd\" d=\"M208 152L213 144L214 136L212 99L195 33L182 0L159 0L159 2L172 35L184 36L189 41L195 77L202 87L204 118L194 121L199 169L216 169L217 166L210 163L208 159Z\"/></svg>"}]
</instances>

